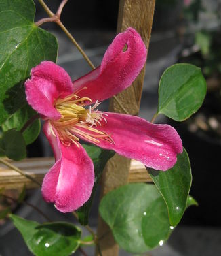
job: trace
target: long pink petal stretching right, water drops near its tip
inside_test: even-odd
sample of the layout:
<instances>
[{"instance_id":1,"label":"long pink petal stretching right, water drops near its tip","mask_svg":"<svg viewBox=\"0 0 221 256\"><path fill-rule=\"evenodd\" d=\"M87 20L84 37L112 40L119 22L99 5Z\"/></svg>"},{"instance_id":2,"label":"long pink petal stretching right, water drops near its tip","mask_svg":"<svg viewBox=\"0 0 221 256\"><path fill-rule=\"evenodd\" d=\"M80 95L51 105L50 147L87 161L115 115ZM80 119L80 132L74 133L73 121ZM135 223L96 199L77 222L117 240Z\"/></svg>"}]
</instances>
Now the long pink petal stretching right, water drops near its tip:
<instances>
[{"instance_id":1,"label":"long pink petal stretching right, water drops near its tip","mask_svg":"<svg viewBox=\"0 0 221 256\"><path fill-rule=\"evenodd\" d=\"M104 114L108 114L107 123L102 121L97 129L111 135L115 144L100 140L95 143L97 146L115 150L155 170L168 170L176 163L176 155L182 153L182 141L173 127L155 125L137 116Z\"/></svg>"}]
</instances>

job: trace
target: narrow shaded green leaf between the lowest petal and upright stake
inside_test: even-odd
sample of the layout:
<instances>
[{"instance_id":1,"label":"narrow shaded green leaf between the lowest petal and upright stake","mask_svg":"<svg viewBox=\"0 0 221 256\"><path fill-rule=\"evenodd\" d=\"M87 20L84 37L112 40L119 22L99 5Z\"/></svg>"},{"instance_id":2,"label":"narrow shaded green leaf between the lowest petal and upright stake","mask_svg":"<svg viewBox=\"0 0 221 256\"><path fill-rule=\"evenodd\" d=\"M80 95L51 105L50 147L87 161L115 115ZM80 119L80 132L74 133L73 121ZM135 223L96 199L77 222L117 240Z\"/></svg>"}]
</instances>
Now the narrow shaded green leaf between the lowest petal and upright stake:
<instances>
[{"instance_id":1,"label":"narrow shaded green leaf between the lowest petal and upright stake","mask_svg":"<svg viewBox=\"0 0 221 256\"><path fill-rule=\"evenodd\" d=\"M104 150L102 148L98 148L94 145L82 145L85 150L87 151L87 154L92 159L94 163L94 187L92 190L92 195L89 198L89 200L77 210L77 214L79 217L79 222L81 225L87 225L88 224L88 217L89 217L89 211L92 208L92 203L94 199L94 195L96 193L96 189L98 187L98 182L100 180L101 174L104 170L104 167L109 159L113 157L115 154L112 150Z\"/></svg>"}]
</instances>

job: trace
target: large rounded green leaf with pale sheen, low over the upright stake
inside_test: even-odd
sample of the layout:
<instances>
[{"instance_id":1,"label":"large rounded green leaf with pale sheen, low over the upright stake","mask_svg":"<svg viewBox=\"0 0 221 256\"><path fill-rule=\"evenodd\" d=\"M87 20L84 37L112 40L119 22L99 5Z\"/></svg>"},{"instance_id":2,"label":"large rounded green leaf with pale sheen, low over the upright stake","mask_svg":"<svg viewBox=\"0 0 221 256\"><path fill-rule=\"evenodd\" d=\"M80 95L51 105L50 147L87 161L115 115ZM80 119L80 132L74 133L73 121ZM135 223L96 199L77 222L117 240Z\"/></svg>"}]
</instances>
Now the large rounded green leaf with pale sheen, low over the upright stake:
<instances>
[{"instance_id":1,"label":"large rounded green leaf with pale sheen, low over the upright stake","mask_svg":"<svg viewBox=\"0 0 221 256\"><path fill-rule=\"evenodd\" d=\"M167 206L150 184L129 184L105 195L100 215L121 248L144 253L165 241L170 229Z\"/></svg>"}]
</instances>

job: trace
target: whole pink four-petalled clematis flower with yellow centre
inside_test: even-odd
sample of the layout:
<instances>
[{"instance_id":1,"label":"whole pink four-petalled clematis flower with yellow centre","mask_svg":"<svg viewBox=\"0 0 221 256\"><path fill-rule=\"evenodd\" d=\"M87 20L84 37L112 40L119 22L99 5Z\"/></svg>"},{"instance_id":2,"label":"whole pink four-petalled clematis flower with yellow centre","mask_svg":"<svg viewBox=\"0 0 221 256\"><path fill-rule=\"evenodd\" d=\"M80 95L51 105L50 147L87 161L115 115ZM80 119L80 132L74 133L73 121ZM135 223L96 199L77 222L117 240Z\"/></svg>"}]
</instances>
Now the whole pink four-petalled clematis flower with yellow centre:
<instances>
[{"instance_id":1,"label":"whole pink four-petalled clematis flower with yellow centre","mask_svg":"<svg viewBox=\"0 0 221 256\"><path fill-rule=\"evenodd\" d=\"M172 167L182 152L180 137L169 125L98 111L100 101L132 84L146 54L140 35L129 28L115 37L100 67L74 82L50 61L31 69L25 82L27 101L45 120L43 131L56 161L45 175L42 194L61 212L82 206L94 185L94 166L79 139L157 170Z\"/></svg>"}]
</instances>

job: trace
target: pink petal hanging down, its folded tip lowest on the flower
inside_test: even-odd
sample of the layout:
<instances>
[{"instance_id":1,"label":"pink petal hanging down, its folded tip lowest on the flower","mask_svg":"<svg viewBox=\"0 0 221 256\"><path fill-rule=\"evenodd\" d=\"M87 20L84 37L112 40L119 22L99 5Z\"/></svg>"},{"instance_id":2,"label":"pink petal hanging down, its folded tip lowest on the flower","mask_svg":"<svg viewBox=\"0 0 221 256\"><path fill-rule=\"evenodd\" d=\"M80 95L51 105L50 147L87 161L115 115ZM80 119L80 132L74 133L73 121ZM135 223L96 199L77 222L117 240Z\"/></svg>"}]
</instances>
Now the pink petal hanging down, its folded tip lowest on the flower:
<instances>
[{"instance_id":1,"label":"pink petal hanging down, its folded tip lowest on the flower","mask_svg":"<svg viewBox=\"0 0 221 256\"><path fill-rule=\"evenodd\" d=\"M85 149L79 144L64 146L52 135L48 121L44 132L51 144L56 163L45 175L42 185L43 198L54 202L61 212L72 212L89 199L94 185L94 166Z\"/></svg>"}]
</instances>

